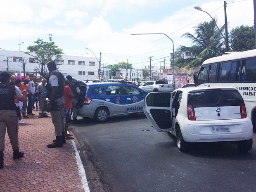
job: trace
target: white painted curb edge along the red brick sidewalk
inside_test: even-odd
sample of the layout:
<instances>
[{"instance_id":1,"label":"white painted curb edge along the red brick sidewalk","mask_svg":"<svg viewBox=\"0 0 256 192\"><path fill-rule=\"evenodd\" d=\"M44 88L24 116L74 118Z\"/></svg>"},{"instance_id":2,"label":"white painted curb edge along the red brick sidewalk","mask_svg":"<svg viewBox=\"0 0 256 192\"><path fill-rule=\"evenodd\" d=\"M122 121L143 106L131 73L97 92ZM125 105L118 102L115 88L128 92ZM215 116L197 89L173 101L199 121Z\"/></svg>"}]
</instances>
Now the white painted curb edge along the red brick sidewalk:
<instances>
[{"instance_id":1,"label":"white painted curb edge along the red brick sidewalk","mask_svg":"<svg viewBox=\"0 0 256 192\"><path fill-rule=\"evenodd\" d=\"M85 169L83 167L83 163L82 163L80 155L78 153L76 143L73 140L71 140L71 144L73 145L73 149L76 154L77 165L79 168L79 172L81 174L84 192L90 192L90 188L89 188L88 181L87 181L86 174L85 174Z\"/></svg>"}]
</instances>

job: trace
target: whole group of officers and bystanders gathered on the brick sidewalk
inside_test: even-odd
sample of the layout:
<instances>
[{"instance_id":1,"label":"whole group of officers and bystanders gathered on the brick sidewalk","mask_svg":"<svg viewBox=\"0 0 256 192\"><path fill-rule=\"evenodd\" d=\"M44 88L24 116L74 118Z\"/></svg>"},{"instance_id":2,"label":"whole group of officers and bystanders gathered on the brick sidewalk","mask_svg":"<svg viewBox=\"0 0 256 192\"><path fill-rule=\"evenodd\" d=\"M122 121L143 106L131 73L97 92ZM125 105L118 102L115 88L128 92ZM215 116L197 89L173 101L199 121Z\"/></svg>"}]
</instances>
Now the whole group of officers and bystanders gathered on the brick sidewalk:
<instances>
[{"instance_id":1,"label":"whole group of officers and bystanders gathered on the brick sidewalk","mask_svg":"<svg viewBox=\"0 0 256 192\"><path fill-rule=\"evenodd\" d=\"M35 115L32 110L36 108L34 107L36 97L39 103L39 118L48 117L47 112L50 112L55 128L55 140L47 147L63 147L66 139L74 139L67 130L68 123L71 123L71 109L73 109L73 123L78 123L76 103L81 94L79 84L71 90L68 86L72 81L71 76L64 77L53 61L47 64L47 68L48 79L43 78L41 85L34 82L33 74L30 74L29 78L24 78L24 82L21 83L21 80L15 80L6 71L0 73L0 168L3 167L4 162L6 129L13 149L13 159L24 156L23 152L19 152L18 125L24 123L21 115L23 118Z\"/></svg>"}]
</instances>

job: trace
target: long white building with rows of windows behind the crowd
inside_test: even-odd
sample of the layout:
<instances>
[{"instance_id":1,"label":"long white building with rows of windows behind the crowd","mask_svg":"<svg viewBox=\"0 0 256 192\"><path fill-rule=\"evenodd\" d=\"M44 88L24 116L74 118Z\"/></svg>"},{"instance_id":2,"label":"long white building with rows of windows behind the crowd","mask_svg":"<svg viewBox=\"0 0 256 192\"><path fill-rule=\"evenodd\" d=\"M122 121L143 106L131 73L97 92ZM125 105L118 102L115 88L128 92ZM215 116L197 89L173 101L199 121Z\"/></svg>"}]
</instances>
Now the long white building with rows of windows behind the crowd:
<instances>
[{"instance_id":1,"label":"long white building with rows of windows behind the crowd","mask_svg":"<svg viewBox=\"0 0 256 192\"><path fill-rule=\"evenodd\" d=\"M34 71L36 66L39 67L35 59L19 51L0 50L0 71L12 71L16 76L20 76L20 74L24 76L21 63L19 62L20 57L24 58L25 61L27 60L25 76L29 76L30 73L33 73L37 77L40 77L40 74ZM59 71L61 71L64 76L71 75L81 80L94 80L99 78L99 62L95 57L62 55L62 58L59 59L59 64ZM103 66L101 66L101 71L100 78L102 80L103 78L109 79L109 69L103 69Z\"/></svg>"}]
</instances>

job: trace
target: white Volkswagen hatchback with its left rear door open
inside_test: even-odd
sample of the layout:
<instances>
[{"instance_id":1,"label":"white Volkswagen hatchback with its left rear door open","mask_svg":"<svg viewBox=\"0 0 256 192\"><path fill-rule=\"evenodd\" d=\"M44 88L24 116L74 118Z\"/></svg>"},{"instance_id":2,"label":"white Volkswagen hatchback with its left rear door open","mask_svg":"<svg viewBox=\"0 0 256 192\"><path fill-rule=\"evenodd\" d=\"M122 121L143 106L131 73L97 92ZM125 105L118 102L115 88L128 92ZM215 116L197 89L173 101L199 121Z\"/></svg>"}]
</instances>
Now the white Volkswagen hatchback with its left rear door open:
<instances>
[{"instance_id":1,"label":"white Volkswagen hatchback with its left rear door open","mask_svg":"<svg viewBox=\"0 0 256 192\"><path fill-rule=\"evenodd\" d=\"M176 136L180 151L190 142L232 141L242 152L252 148L253 126L235 88L189 87L150 92L144 113L157 131Z\"/></svg>"}]
</instances>

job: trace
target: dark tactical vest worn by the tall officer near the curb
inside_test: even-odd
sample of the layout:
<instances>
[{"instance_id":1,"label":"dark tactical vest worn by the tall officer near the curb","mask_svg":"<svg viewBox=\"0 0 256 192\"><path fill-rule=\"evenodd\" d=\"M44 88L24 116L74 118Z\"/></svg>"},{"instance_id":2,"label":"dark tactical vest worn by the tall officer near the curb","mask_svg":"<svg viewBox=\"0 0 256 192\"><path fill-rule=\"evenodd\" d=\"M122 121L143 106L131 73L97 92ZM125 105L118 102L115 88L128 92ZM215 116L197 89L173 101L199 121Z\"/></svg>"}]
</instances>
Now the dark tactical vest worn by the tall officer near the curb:
<instances>
[{"instance_id":1,"label":"dark tactical vest worn by the tall officer near the curb","mask_svg":"<svg viewBox=\"0 0 256 192\"><path fill-rule=\"evenodd\" d=\"M58 86L58 95L57 95L56 99L63 97L64 96L64 86L65 86L64 85L64 76L62 75L62 73L57 72L57 71L53 71L50 74L50 76L52 76L52 75L55 75L58 78L59 86ZM46 97L48 99L50 99L51 93L52 93L52 85L49 83L50 76L48 78L47 85L46 85L46 90L47 90Z\"/></svg>"}]
</instances>

